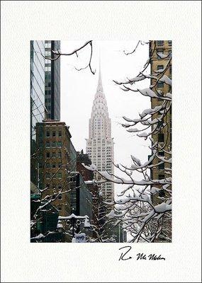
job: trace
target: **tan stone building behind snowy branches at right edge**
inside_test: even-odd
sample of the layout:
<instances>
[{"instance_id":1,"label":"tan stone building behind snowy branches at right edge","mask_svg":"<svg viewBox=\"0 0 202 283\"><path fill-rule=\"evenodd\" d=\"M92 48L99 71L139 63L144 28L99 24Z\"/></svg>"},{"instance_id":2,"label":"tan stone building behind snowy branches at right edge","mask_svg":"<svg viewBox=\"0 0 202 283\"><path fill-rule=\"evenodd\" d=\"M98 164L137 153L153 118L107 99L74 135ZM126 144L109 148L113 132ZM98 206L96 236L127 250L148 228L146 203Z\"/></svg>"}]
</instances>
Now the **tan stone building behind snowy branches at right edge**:
<instances>
[{"instance_id":1,"label":"tan stone building behind snowy branches at right edge","mask_svg":"<svg viewBox=\"0 0 202 283\"><path fill-rule=\"evenodd\" d=\"M152 52L155 52L152 54ZM150 42L150 55L152 54L152 62L151 62L151 74L156 75L157 71L166 69L164 74L172 79L172 40L156 40ZM151 85L155 84L155 80L151 79ZM172 87L169 84L158 81L156 86L156 93L159 93L160 96L166 96L167 93L172 93ZM155 108L157 105L162 105L163 100L160 98L152 98L151 105L152 108ZM169 110L167 115L164 117L163 122L166 124L166 127L160 130L157 134L152 134L152 139L154 139L154 143L158 141L159 149L157 151L158 156L164 156L165 159L171 158L169 154L172 151L172 106L170 102L167 102L166 106ZM161 115L161 113L157 113L152 116L152 120ZM159 163L159 159L155 158L153 161L154 164ZM165 170L165 168L168 168ZM153 167L151 170L151 178L152 180L163 180L169 178L170 171L172 168L171 163L162 163L156 167ZM159 187L156 185L156 187ZM169 186L169 190L172 190L172 186ZM153 204L157 205L164 202L165 198L168 197L168 192L162 189L157 192L157 194L152 196ZM159 234L159 237L155 239L155 242L167 242L167 238L172 238L172 212L169 212L164 215L164 219L162 222L162 232ZM167 238L164 237L164 232L167 234Z\"/></svg>"}]
</instances>

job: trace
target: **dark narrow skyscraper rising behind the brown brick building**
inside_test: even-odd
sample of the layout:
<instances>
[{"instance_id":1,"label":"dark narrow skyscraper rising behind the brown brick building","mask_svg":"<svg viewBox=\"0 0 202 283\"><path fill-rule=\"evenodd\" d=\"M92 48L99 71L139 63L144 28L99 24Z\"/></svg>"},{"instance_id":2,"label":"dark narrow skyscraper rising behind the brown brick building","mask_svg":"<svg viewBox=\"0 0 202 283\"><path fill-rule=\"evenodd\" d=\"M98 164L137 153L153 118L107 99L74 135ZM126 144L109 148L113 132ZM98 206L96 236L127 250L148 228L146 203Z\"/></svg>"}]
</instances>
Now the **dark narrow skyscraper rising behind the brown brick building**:
<instances>
[{"instance_id":1,"label":"dark narrow skyscraper rising behind the brown brick building","mask_svg":"<svg viewBox=\"0 0 202 283\"><path fill-rule=\"evenodd\" d=\"M60 50L59 40L45 40L45 57L53 58L51 50ZM48 119L60 120L60 58L45 59L45 107Z\"/></svg>"}]
</instances>

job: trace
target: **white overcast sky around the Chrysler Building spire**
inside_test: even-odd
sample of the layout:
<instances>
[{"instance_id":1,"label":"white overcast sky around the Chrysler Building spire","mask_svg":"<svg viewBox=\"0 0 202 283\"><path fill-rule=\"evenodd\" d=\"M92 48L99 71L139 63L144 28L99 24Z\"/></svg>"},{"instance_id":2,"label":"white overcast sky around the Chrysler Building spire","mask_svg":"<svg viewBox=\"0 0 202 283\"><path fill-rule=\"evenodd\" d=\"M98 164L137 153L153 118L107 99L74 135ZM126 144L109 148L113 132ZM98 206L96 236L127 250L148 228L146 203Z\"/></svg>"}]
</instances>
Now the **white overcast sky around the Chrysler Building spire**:
<instances>
[{"instance_id":1,"label":"white overcast sky around the Chrysler Building spire","mask_svg":"<svg viewBox=\"0 0 202 283\"><path fill-rule=\"evenodd\" d=\"M77 71L75 67L86 67L89 62L90 48L85 47L79 52L79 57L61 57L61 120L69 125L72 134L72 143L77 151L84 149L86 152L86 138L89 137L89 118L96 93L99 76L99 54L101 54L101 76L103 92L106 96L108 113L111 118L111 135L114 137L115 163L130 165L130 155L147 161L150 154L149 141L136 137L127 132L121 125L123 116L138 118L138 114L150 108L150 98L141 96L140 93L125 92L120 89L114 80L124 80L138 75L140 69L147 61L148 45L139 45L135 54L126 56L123 50L132 51L137 41L93 41L92 69L96 74L91 74L89 68ZM83 41L61 41L62 52L70 52L84 44ZM150 86L150 81L138 84L142 88ZM118 173L118 171L116 171ZM142 176L136 176L142 180ZM115 192L123 190L122 185L115 185Z\"/></svg>"}]
</instances>

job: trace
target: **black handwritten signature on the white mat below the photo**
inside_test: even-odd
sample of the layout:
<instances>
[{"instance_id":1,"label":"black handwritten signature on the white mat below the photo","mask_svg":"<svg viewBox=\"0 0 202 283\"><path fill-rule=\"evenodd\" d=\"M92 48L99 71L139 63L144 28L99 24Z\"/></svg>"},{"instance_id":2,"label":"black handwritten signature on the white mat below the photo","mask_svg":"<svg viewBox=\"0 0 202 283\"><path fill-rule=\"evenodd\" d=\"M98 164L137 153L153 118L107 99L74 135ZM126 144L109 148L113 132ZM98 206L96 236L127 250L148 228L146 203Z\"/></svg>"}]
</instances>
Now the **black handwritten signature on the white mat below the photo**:
<instances>
[{"instance_id":1,"label":"black handwritten signature on the white mat below the photo","mask_svg":"<svg viewBox=\"0 0 202 283\"><path fill-rule=\"evenodd\" d=\"M122 248L119 248L121 250L121 255L119 260L130 260L133 258L130 256L130 250L132 249L131 246L125 246ZM145 253L138 253L136 255L136 260L166 260L162 257L162 255L155 255L155 253L150 253L150 255L146 255Z\"/></svg>"}]
</instances>

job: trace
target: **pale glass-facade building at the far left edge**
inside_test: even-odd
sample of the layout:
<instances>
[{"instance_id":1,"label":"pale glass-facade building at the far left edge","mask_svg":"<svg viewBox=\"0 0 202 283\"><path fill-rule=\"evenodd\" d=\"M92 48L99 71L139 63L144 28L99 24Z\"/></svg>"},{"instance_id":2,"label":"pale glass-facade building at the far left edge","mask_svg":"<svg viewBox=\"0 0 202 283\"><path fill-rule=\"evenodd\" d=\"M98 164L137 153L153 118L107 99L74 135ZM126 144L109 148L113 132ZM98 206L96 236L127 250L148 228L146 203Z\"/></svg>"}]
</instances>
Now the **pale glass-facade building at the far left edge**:
<instances>
[{"instance_id":1,"label":"pale glass-facade building at the far left edge","mask_svg":"<svg viewBox=\"0 0 202 283\"><path fill-rule=\"evenodd\" d=\"M36 150L35 125L46 117L45 109L45 41L30 41L30 154ZM37 183L35 162L30 162L31 182Z\"/></svg>"}]
</instances>

